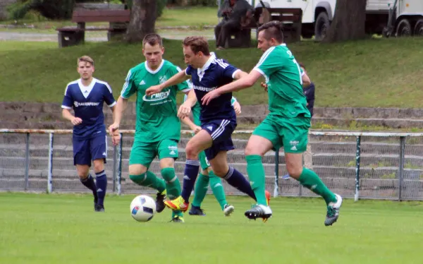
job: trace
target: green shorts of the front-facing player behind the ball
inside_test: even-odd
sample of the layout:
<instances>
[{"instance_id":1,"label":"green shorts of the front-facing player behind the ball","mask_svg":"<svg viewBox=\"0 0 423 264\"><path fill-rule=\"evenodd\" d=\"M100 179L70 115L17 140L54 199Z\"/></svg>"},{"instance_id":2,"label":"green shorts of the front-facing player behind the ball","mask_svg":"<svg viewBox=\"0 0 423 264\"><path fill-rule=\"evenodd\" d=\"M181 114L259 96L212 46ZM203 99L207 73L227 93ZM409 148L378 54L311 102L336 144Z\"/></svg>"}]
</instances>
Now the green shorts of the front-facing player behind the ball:
<instances>
[{"instance_id":1,"label":"green shorts of the front-facing player behind the ball","mask_svg":"<svg viewBox=\"0 0 423 264\"><path fill-rule=\"evenodd\" d=\"M149 167L156 156L159 160L166 157L178 159L178 141L172 139L164 139L157 142L146 143L140 142L135 138L129 155L129 164L142 164Z\"/></svg>"}]
</instances>

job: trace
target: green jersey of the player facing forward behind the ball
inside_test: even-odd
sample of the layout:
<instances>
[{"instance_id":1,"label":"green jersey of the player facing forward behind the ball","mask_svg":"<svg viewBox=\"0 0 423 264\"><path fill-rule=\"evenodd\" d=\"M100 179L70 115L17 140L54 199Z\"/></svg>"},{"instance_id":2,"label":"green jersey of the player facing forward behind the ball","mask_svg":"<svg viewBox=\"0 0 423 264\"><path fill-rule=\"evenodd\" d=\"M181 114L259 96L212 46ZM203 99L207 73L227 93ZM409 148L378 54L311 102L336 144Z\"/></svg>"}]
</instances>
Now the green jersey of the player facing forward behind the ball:
<instances>
[{"instance_id":1,"label":"green jersey of the player facing forward behind the ball","mask_svg":"<svg viewBox=\"0 0 423 264\"><path fill-rule=\"evenodd\" d=\"M121 97L128 99L137 94L137 121L135 138L141 142L157 142L164 139L180 140L180 121L176 109L176 93L188 92L188 82L165 88L161 92L147 96L145 90L159 85L174 76L180 68L169 61L161 61L157 70L152 71L143 62L131 68L126 76Z\"/></svg>"}]
</instances>

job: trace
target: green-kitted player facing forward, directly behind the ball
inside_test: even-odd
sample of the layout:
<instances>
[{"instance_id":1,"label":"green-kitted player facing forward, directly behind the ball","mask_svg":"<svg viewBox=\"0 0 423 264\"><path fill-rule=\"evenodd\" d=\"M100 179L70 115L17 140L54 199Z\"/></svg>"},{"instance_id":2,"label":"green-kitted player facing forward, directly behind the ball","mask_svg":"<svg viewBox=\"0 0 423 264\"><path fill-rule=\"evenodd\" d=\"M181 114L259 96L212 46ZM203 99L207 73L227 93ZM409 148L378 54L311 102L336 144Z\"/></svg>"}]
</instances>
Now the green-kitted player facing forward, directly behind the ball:
<instances>
[{"instance_id":1,"label":"green-kitted player facing forward, directly behind the ball","mask_svg":"<svg viewBox=\"0 0 423 264\"><path fill-rule=\"evenodd\" d=\"M123 111L128 104L128 98L136 94L137 119L135 140L129 157L129 178L135 184L157 190L157 212L161 212L165 207L166 195L171 199L180 196L180 182L174 169L180 140L176 94L184 92L185 95L188 95L191 88L185 81L157 94L145 95L147 88L164 83L180 69L162 58L164 47L159 35L146 35L142 45L142 53L146 61L129 70L121 96L116 104L114 124L109 127L109 131L112 135L116 135ZM195 102L192 102L192 105ZM116 136L114 136L113 143L118 143ZM156 156L160 160L163 179L149 171L149 166ZM183 222L182 212L173 211L172 214L173 222Z\"/></svg>"}]
</instances>

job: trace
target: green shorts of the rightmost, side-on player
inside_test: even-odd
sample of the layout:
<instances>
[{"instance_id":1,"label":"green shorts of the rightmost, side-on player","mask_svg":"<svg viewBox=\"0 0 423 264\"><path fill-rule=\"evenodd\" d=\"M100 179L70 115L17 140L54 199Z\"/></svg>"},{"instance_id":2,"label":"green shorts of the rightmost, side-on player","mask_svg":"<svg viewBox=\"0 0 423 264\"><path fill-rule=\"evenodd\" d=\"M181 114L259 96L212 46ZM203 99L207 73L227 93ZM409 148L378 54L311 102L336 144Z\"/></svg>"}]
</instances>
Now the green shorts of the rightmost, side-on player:
<instances>
[{"instance_id":1,"label":"green shorts of the rightmost, side-on player","mask_svg":"<svg viewBox=\"0 0 423 264\"><path fill-rule=\"evenodd\" d=\"M278 150L283 146L283 151L286 153L302 153L307 149L309 128L309 117L266 116L266 119L255 128L252 134L270 140L274 146L273 150Z\"/></svg>"}]
</instances>

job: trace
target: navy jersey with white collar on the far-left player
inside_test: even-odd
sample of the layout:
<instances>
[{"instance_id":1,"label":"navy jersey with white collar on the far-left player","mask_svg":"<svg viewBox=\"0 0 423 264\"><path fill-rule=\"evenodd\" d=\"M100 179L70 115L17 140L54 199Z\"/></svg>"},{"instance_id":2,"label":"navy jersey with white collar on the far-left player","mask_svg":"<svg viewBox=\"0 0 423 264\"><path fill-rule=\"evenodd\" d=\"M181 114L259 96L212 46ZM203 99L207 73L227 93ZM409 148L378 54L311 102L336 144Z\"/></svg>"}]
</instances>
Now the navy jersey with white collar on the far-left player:
<instances>
[{"instance_id":1,"label":"navy jersey with white collar on the far-left player","mask_svg":"<svg viewBox=\"0 0 423 264\"><path fill-rule=\"evenodd\" d=\"M75 138L106 136L103 102L106 102L109 107L116 104L108 83L97 79L92 79L89 86L82 85L80 79L68 83L62 108L73 108L75 117L82 119L82 124L73 126Z\"/></svg>"}]
</instances>

